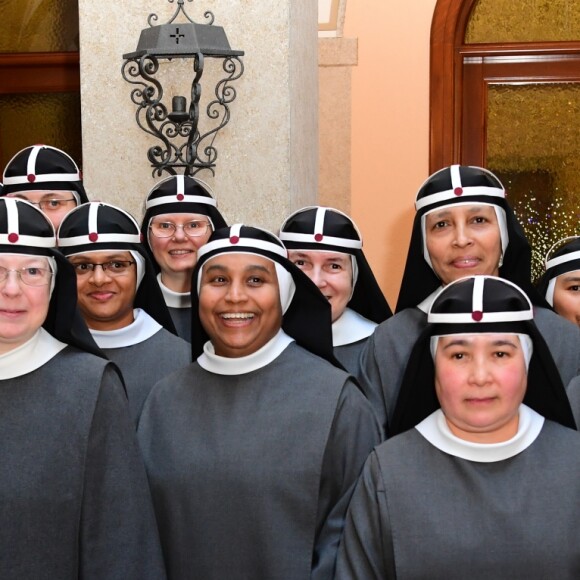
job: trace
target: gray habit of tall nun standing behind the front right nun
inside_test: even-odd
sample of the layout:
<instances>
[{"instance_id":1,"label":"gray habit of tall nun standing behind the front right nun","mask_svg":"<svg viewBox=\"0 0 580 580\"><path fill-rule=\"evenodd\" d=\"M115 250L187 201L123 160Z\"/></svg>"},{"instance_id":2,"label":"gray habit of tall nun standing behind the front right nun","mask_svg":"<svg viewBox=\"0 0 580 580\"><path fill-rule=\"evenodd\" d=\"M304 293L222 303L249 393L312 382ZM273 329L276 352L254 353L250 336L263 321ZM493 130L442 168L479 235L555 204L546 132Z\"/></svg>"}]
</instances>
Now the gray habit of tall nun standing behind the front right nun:
<instances>
[{"instance_id":1,"label":"gray habit of tall nun standing behind the front right nun","mask_svg":"<svg viewBox=\"0 0 580 580\"><path fill-rule=\"evenodd\" d=\"M580 374L580 330L547 308L534 307L534 322L567 385ZM361 353L358 378L386 435L407 362L426 325L423 311L407 308L379 324Z\"/></svg>"}]
</instances>

